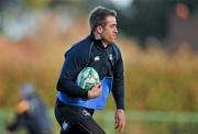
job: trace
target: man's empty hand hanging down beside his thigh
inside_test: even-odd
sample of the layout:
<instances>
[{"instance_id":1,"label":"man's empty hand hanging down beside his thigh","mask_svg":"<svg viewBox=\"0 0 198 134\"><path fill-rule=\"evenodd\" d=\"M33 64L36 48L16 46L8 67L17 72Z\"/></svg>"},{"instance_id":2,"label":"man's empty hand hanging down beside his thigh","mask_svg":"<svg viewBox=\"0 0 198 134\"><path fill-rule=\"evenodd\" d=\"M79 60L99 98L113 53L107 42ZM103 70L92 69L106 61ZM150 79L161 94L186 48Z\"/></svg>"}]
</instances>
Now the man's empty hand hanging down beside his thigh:
<instances>
[{"instance_id":1,"label":"man's empty hand hanging down beside his thigh","mask_svg":"<svg viewBox=\"0 0 198 134\"><path fill-rule=\"evenodd\" d=\"M125 115L122 109L118 109L116 111L114 120L116 120L116 129L118 129L119 132L123 133L124 125L125 125Z\"/></svg>"}]
</instances>

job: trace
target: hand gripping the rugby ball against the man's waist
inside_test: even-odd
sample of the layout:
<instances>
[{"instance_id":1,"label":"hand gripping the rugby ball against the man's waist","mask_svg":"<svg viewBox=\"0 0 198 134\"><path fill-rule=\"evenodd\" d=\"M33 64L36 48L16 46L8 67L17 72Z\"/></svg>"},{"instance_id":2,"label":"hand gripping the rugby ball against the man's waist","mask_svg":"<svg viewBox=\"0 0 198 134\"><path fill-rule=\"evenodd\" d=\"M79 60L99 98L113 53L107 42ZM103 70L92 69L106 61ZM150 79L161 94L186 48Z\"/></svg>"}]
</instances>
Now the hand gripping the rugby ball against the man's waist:
<instances>
[{"instance_id":1,"label":"hand gripping the rugby ball against the man's waist","mask_svg":"<svg viewBox=\"0 0 198 134\"><path fill-rule=\"evenodd\" d=\"M88 91L88 99L99 97L101 90L102 90L101 83L96 85L91 90Z\"/></svg>"}]
</instances>

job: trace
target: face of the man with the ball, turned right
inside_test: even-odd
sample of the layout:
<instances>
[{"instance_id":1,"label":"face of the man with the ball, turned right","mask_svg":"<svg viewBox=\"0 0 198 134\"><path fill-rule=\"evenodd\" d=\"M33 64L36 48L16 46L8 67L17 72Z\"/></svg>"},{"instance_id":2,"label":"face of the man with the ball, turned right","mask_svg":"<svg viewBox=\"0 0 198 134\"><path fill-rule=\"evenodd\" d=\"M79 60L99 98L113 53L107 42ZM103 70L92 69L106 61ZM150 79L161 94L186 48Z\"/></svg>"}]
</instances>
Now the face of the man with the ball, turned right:
<instances>
[{"instance_id":1,"label":"face of the man with the ball, turned right","mask_svg":"<svg viewBox=\"0 0 198 134\"><path fill-rule=\"evenodd\" d=\"M117 19L114 16L109 15L106 18L106 25L103 26L101 38L107 44L113 44L116 42L117 35Z\"/></svg>"}]
</instances>

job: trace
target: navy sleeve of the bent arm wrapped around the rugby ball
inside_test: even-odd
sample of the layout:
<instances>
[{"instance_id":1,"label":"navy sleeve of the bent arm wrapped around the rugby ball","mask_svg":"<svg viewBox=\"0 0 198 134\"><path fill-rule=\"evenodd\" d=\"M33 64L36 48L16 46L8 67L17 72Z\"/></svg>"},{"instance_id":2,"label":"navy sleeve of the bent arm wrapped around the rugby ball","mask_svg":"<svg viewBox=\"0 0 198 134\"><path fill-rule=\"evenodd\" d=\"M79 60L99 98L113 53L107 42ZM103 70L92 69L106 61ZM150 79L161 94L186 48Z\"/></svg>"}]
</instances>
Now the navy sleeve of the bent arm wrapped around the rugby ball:
<instances>
[{"instance_id":1,"label":"navy sleeve of the bent arm wrapped around the rugby ball","mask_svg":"<svg viewBox=\"0 0 198 134\"><path fill-rule=\"evenodd\" d=\"M87 98L88 91L75 83L86 57L79 53L77 49L70 49L65 54L65 62L56 88L69 97Z\"/></svg>"}]
</instances>

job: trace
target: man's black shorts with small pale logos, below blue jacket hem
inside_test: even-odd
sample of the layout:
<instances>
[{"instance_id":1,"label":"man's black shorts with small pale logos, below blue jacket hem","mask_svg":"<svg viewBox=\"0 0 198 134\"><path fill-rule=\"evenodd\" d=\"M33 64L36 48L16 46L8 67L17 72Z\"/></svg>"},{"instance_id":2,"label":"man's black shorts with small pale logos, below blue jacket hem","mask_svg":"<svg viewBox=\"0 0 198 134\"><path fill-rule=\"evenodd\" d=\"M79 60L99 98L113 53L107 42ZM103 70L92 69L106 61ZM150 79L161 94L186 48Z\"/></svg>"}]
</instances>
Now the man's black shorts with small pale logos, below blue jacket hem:
<instances>
[{"instance_id":1,"label":"man's black shorts with small pale logos, below blue jacket hem","mask_svg":"<svg viewBox=\"0 0 198 134\"><path fill-rule=\"evenodd\" d=\"M61 134L106 134L92 119L94 110L68 105L58 99L55 118L61 125Z\"/></svg>"}]
</instances>

